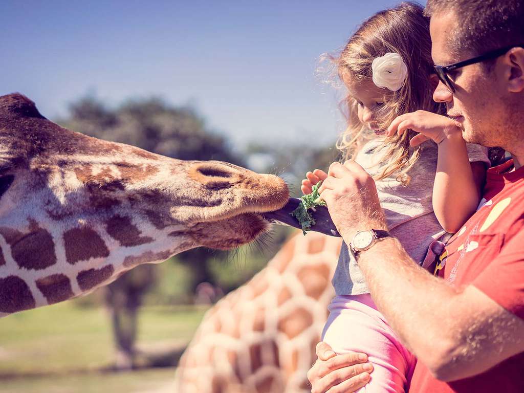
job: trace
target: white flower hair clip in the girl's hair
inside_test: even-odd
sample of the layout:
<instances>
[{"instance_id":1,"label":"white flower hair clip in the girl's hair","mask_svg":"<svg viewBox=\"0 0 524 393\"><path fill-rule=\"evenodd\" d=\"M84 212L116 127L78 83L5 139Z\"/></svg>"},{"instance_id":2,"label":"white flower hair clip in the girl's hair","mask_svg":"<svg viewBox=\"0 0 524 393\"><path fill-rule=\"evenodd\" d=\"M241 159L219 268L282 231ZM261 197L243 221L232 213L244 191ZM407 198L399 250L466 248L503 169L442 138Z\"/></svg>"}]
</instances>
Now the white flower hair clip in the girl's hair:
<instances>
[{"instance_id":1,"label":"white flower hair clip in the girl's hair","mask_svg":"<svg viewBox=\"0 0 524 393\"><path fill-rule=\"evenodd\" d=\"M399 90L408 76L408 67L398 53L388 52L371 63L373 83L379 88Z\"/></svg>"}]
</instances>

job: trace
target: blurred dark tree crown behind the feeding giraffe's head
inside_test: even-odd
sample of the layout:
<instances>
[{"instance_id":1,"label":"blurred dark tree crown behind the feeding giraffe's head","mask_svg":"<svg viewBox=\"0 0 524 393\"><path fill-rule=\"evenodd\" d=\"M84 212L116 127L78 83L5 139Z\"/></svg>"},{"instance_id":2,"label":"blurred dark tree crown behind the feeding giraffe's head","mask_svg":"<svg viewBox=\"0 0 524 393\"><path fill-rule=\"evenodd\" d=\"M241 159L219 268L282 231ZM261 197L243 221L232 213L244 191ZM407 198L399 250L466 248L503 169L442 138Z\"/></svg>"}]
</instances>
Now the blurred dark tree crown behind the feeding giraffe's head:
<instances>
[{"instance_id":1,"label":"blurred dark tree crown behind the feeding giraffe's head","mask_svg":"<svg viewBox=\"0 0 524 393\"><path fill-rule=\"evenodd\" d=\"M87 96L60 119L64 127L181 160L221 160L244 166L226 139L206 128L189 107L172 107L159 98L130 100L111 109Z\"/></svg>"}]
</instances>

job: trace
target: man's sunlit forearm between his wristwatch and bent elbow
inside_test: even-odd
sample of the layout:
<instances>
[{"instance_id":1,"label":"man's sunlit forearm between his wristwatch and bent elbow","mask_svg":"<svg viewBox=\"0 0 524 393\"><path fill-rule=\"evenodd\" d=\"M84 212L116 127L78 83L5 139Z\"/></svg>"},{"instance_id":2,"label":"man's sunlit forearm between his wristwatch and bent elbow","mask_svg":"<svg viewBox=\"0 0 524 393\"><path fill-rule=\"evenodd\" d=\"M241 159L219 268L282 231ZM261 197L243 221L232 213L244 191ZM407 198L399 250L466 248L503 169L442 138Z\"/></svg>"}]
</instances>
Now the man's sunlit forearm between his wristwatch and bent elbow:
<instances>
[{"instance_id":1,"label":"man's sunlit forearm between his wristwatch and bent elbow","mask_svg":"<svg viewBox=\"0 0 524 393\"><path fill-rule=\"evenodd\" d=\"M431 367L444 356L453 329L457 291L419 267L397 239L386 238L358 256L373 300L402 342ZM442 354L438 345L442 344Z\"/></svg>"}]
</instances>

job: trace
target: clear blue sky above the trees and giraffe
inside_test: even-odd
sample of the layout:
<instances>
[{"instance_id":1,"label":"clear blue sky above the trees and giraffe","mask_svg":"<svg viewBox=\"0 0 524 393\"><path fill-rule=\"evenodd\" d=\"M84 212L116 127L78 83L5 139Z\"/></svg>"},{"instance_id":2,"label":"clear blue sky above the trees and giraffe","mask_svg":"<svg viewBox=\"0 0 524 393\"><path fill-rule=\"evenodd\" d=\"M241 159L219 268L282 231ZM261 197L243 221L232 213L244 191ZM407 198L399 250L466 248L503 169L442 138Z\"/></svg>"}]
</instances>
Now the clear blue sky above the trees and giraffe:
<instances>
[{"instance_id":1,"label":"clear blue sky above the trees and giraffe","mask_svg":"<svg viewBox=\"0 0 524 393\"><path fill-rule=\"evenodd\" d=\"M24 93L49 118L87 94L156 95L194 106L236 146L329 144L343 122L319 57L397 3L3 0L0 95Z\"/></svg>"}]
</instances>

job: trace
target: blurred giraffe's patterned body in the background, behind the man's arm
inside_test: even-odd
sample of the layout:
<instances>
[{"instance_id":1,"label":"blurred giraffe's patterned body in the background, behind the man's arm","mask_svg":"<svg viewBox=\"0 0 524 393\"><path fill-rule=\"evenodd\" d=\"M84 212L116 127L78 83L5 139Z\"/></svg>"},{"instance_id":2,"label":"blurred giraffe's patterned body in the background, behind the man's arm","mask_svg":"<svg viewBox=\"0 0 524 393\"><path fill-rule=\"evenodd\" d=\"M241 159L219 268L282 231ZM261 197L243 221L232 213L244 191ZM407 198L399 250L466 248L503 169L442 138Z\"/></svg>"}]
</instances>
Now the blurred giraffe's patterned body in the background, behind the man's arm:
<instances>
[{"instance_id":1,"label":"blurred giraffe's patterned body in the background, behind the man's arm","mask_svg":"<svg viewBox=\"0 0 524 393\"><path fill-rule=\"evenodd\" d=\"M177 393L310 391L307 372L334 296L342 239L293 236L206 314L180 359Z\"/></svg>"}]
</instances>

